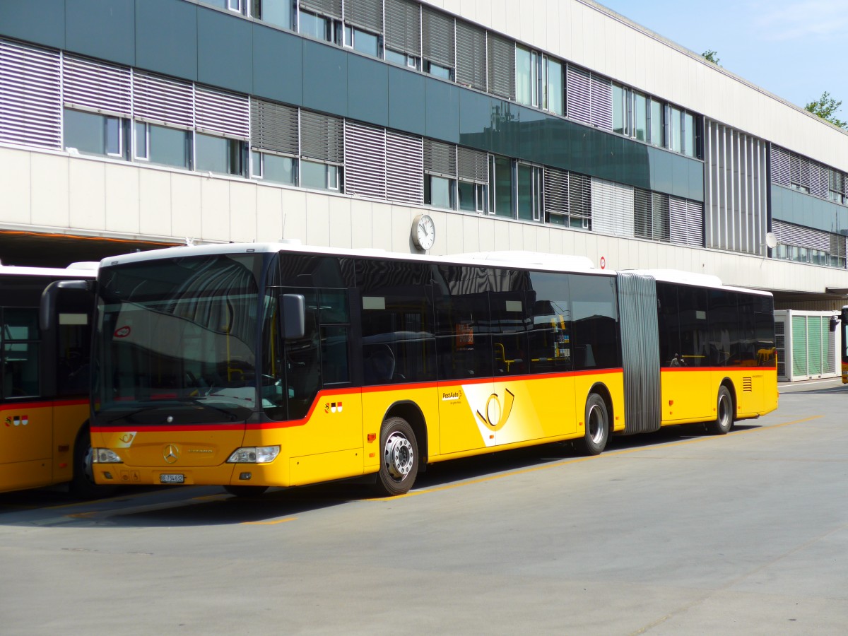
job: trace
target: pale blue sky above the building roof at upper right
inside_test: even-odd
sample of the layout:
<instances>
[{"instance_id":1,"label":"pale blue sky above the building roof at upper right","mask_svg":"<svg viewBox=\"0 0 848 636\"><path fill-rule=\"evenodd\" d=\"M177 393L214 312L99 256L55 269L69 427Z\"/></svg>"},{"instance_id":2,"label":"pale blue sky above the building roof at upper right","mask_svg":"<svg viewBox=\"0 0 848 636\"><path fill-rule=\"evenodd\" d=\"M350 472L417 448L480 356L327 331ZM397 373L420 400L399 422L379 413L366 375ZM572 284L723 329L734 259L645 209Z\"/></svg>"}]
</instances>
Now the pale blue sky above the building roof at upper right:
<instances>
[{"instance_id":1,"label":"pale blue sky above the building roof at upper right","mask_svg":"<svg viewBox=\"0 0 848 636\"><path fill-rule=\"evenodd\" d=\"M804 108L827 91L848 119L848 0L597 0Z\"/></svg>"}]
</instances>

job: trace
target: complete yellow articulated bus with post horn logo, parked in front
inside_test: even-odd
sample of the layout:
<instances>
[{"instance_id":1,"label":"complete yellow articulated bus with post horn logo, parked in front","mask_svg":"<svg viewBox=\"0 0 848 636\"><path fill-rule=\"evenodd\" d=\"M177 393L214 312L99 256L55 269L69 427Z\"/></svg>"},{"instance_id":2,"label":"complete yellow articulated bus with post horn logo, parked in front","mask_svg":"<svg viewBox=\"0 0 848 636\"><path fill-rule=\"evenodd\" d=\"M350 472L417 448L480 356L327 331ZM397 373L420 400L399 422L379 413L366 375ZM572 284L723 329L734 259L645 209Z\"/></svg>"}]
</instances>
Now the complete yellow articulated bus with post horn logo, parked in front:
<instances>
[{"instance_id":1,"label":"complete yellow articulated bus with post horn logo, parked in front","mask_svg":"<svg viewBox=\"0 0 848 636\"><path fill-rule=\"evenodd\" d=\"M98 273L98 483L233 494L777 406L773 302L530 254L168 248ZM765 353L764 353L765 352Z\"/></svg>"}]
</instances>

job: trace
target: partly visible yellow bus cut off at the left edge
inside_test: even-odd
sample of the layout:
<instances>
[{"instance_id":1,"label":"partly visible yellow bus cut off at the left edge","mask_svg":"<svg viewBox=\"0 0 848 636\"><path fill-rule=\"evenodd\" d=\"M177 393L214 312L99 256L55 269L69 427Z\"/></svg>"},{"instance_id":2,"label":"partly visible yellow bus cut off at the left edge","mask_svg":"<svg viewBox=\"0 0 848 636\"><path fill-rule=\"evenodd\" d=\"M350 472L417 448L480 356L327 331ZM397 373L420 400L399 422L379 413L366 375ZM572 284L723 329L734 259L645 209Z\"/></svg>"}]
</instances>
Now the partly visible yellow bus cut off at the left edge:
<instances>
[{"instance_id":1,"label":"partly visible yellow bus cut off at the left edge","mask_svg":"<svg viewBox=\"0 0 848 636\"><path fill-rule=\"evenodd\" d=\"M96 270L0 266L0 493L59 483L103 492L88 435Z\"/></svg>"}]
</instances>

